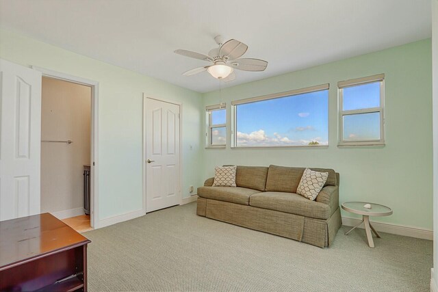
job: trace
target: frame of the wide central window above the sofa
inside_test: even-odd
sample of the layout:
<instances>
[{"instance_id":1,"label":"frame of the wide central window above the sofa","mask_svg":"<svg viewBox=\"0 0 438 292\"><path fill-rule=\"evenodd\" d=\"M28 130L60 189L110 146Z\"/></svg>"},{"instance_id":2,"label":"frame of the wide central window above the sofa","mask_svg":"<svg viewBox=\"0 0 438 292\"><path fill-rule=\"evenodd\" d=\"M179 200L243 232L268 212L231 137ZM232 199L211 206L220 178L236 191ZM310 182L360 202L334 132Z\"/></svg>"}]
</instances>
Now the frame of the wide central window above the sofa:
<instances>
[{"instance_id":1,"label":"frame of the wide central window above the sofa","mask_svg":"<svg viewBox=\"0 0 438 292\"><path fill-rule=\"evenodd\" d=\"M231 101L231 149L248 149L248 148L328 148L330 141L330 92L327 106L327 145L280 145L280 146L237 146L237 105L246 103L255 103L257 101L268 101L270 99L282 98L287 96L294 96L299 94L306 94L309 92L330 91L330 83L310 86L307 88L300 88L296 90L289 90L287 92L279 92L263 96L255 96L250 98L243 98L237 101Z\"/></svg>"}]
</instances>

